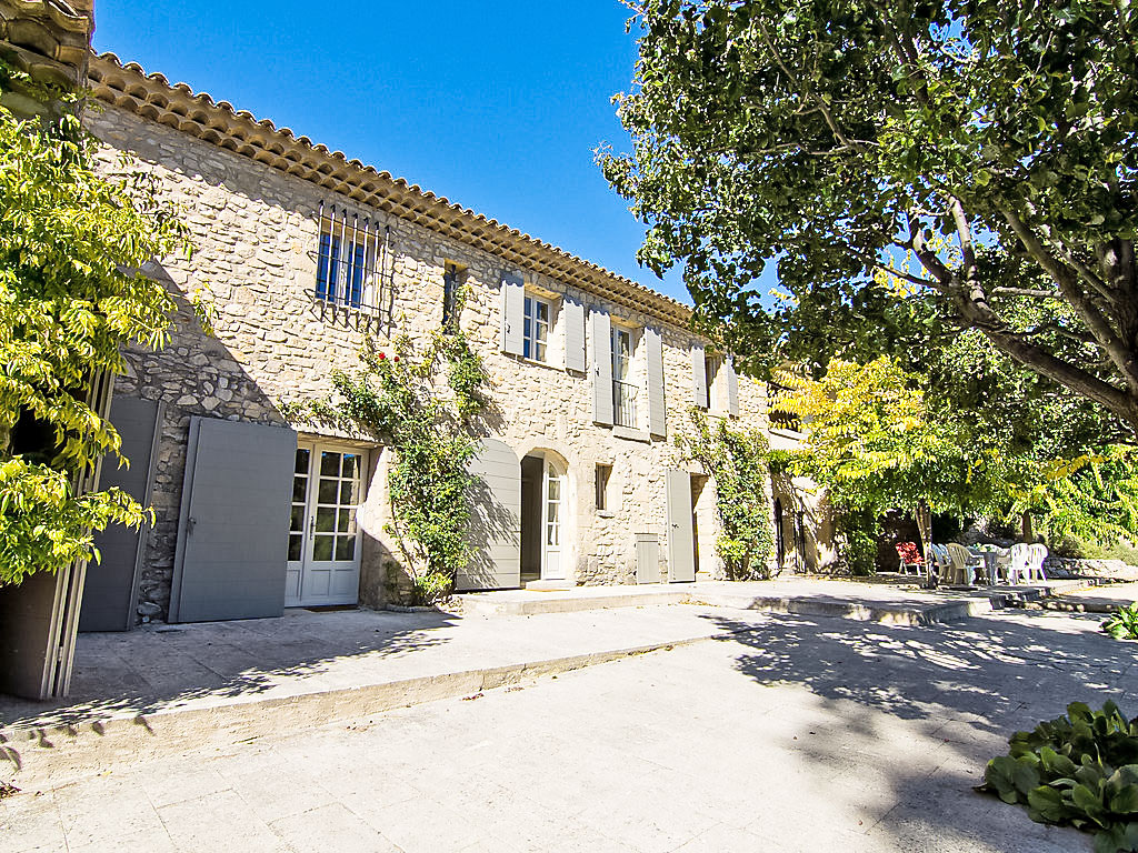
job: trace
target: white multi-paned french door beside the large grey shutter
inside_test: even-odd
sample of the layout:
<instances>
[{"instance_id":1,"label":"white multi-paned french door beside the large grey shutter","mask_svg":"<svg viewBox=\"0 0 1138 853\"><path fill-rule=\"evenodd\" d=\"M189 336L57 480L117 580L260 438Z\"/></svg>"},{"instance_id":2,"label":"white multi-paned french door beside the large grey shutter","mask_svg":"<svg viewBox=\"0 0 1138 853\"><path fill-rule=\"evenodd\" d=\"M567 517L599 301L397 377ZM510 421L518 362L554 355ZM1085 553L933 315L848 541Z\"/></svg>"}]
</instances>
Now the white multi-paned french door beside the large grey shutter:
<instances>
[{"instance_id":1,"label":"white multi-paned french door beside the large grey shutter","mask_svg":"<svg viewBox=\"0 0 1138 853\"><path fill-rule=\"evenodd\" d=\"M360 597L365 455L355 449L300 441L292 477L284 606L355 604Z\"/></svg>"}]
</instances>

